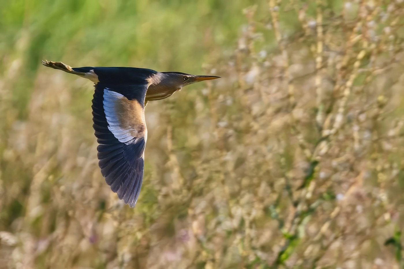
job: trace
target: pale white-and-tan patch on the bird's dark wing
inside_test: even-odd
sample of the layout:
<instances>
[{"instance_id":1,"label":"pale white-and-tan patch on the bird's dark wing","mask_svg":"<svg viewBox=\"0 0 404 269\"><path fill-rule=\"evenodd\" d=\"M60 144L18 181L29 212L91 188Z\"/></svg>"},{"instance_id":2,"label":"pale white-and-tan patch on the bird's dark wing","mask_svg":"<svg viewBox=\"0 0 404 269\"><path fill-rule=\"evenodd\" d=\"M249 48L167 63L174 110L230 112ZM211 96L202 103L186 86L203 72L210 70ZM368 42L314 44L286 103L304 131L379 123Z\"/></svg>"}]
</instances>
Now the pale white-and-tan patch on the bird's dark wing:
<instances>
[{"instance_id":1,"label":"pale white-and-tan patch on the bird's dark wing","mask_svg":"<svg viewBox=\"0 0 404 269\"><path fill-rule=\"evenodd\" d=\"M121 143L147 137L145 114L137 100L128 100L118 92L104 89L103 107L108 129Z\"/></svg>"}]
</instances>

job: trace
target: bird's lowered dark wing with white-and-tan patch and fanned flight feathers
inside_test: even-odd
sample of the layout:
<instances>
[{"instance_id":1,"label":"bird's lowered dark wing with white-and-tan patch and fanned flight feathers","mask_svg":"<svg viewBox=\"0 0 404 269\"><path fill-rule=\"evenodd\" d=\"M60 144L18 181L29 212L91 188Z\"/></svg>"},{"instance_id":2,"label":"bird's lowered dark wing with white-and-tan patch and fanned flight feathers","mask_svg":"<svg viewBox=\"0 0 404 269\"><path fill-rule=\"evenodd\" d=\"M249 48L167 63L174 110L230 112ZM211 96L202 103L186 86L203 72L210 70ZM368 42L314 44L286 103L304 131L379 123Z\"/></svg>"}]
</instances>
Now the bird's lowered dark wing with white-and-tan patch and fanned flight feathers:
<instances>
[{"instance_id":1,"label":"bird's lowered dark wing with white-and-tan patch and fanned flight feathers","mask_svg":"<svg viewBox=\"0 0 404 269\"><path fill-rule=\"evenodd\" d=\"M130 207L136 204L143 180L146 90L147 84L98 82L93 96L93 127L99 143L101 174Z\"/></svg>"}]
</instances>

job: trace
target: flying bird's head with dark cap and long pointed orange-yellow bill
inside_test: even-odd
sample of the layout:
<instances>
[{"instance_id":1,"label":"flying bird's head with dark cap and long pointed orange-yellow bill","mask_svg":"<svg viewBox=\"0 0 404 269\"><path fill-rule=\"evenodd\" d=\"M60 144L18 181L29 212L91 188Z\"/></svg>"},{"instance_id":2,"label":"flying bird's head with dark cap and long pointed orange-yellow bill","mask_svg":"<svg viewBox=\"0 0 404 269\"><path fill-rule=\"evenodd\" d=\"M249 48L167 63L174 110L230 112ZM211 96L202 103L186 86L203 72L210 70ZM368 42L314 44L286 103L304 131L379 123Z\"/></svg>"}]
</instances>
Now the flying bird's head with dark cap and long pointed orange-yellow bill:
<instances>
[{"instance_id":1,"label":"flying bird's head with dark cap and long pointed orange-yellow bill","mask_svg":"<svg viewBox=\"0 0 404 269\"><path fill-rule=\"evenodd\" d=\"M218 76L195 76L181 72L162 72L162 82L170 88L181 89L183 86L204 80L214 80Z\"/></svg>"}]
</instances>

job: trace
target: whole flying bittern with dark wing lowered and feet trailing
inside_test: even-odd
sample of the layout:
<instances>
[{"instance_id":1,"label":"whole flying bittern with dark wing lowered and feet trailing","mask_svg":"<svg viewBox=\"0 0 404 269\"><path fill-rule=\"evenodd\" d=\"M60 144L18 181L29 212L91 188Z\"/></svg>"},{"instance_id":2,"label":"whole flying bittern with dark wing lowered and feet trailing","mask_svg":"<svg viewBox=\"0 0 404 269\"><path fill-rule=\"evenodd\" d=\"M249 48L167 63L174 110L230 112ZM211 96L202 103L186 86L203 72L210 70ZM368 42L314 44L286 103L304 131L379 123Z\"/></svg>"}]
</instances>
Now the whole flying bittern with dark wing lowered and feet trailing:
<instances>
[{"instance_id":1,"label":"whole flying bittern with dark wing lowered and feet trailing","mask_svg":"<svg viewBox=\"0 0 404 269\"><path fill-rule=\"evenodd\" d=\"M112 191L130 207L136 204L143 180L147 101L170 97L195 82L220 78L135 67L70 67L52 61L42 64L95 83L92 108L98 164Z\"/></svg>"}]
</instances>

